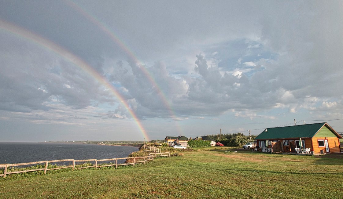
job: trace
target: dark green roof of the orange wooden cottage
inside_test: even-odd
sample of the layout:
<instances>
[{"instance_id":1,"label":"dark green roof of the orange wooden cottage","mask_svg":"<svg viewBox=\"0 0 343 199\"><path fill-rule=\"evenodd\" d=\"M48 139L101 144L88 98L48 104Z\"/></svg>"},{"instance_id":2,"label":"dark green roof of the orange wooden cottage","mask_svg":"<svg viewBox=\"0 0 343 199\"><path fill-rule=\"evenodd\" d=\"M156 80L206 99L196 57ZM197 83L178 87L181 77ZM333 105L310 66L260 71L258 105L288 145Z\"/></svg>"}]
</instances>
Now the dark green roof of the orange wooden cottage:
<instances>
[{"instance_id":1,"label":"dark green roof of the orange wooden cottage","mask_svg":"<svg viewBox=\"0 0 343 199\"><path fill-rule=\"evenodd\" d=\"M323 122L323 123L315 123L315 124L303 124L303 125L296 125L296 126L266 128L267 132L264 130L255 139L263 140L263 139L305 138L305 137L312 138L324 125L328 127L336 136L341 137L330 125L328 125L326 122Z\"/></svg>"}]
</instances>

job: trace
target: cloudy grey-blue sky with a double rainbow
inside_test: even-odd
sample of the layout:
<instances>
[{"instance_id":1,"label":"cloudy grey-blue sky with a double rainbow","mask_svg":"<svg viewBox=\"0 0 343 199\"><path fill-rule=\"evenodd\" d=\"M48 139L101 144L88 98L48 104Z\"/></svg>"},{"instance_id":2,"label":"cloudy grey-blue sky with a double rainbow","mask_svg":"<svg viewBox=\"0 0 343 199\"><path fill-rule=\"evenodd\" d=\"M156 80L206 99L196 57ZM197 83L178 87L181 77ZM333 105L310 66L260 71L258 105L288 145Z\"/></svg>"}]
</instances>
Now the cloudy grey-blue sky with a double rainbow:
<instances>
[{"instance_id":1,"label":"cloudy grey-blue sky with a double rainbow","mask_svg":"<svg viewBox=\"0 0 343 199\"><path fill-rule=\"evenodd\" d=\"M343 1L0 5L0 141L343 132Z\"/></svg>"}]
</instances>

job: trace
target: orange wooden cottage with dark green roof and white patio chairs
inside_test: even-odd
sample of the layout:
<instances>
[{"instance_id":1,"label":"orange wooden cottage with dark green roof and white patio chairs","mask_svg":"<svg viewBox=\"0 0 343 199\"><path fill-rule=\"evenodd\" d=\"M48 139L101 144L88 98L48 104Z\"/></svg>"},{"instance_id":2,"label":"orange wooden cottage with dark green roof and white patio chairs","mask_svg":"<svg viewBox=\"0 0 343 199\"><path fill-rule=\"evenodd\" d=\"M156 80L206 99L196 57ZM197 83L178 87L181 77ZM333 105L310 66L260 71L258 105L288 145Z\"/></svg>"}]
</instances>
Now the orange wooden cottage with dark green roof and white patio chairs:
<instances>
[{"instance_id":1,"label":"orange wooden cottage with dark green roof and white patio chairs","mask_svg":"<svg viewBox=\"0 0 343 199\"><path fill-rule=\"evenodd\" d=\"M275 152L295 152L295 148L300 148L300 138L303 149L310 148L315 153L320 153L321 150L324 153L341 152L339 139L342 136L326 122L266 128L255 139L260 151L268 140Z\"/></svg>"}]
</instances>

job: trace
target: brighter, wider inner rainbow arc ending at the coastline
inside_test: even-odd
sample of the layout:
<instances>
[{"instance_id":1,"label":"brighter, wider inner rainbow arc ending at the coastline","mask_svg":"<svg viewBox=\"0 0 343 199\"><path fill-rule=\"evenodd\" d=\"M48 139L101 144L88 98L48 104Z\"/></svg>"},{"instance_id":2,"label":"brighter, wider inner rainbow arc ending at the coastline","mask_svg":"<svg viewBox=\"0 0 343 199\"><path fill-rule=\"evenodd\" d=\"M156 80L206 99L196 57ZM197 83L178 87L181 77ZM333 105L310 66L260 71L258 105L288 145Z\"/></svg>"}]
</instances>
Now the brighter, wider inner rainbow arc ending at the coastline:
<instances>
[{"instance_id":1,"label":"brighter, wider inner rainbow arc ending at the coastline","mask_svg":"<svg viewBox=\"0 0 343 199\"><path fill-rule=\"evenodd\" d=\"M137 115L133 112L133 110L130 108L129 104L126 102L126 100L120 95L120 93L117 91L117 89L111 85L102 75L100 75L97 71L93 69L89 64L87 64L85 61L80 59L78 56L70 53L68 50L62 48L61 46L57 45L56 43L49 41L39 35L36 35L24 28L21 28L19 26L13 25L9 22L6 22L4 20L0 19L0 28L3 30L6 30L7 32L10 32L16 36L19 36L21 38L25 38L27 40L33 41L34 43L37 43L40 46L43 46L46 49L49 49L52 52L55 52L59 54L64 59L68 60L69 62L75 64L76 66L80 67L83 71L85 71L87 74L95 78L100 84L105 86L109 89L109 91L117 98L119 99L120 103L124 105L124 107L128 110L132 118L134 119L135 123L137 124L138 128L143 134L143 137L146 140L150 140L145 129L143 128L141 122L139 121Z\"/></svg>"}]
</instances>

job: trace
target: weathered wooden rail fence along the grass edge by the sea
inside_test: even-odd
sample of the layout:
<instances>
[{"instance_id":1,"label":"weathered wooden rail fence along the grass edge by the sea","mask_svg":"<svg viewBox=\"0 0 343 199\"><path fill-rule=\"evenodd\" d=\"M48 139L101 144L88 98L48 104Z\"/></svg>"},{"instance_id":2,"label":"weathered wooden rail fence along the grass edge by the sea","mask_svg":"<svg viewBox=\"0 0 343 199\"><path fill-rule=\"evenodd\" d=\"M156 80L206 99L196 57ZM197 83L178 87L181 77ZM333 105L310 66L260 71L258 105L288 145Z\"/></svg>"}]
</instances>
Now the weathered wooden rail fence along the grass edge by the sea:
<instances>
[{"instance_id":1,"label":"weathered wooden rail fence along the grass edge by the sea","mask_svg":"<svg viewBox=\"0 0 343 199\"><path fill-rule=\"evenodd\" d=\"M170 157L170 152L152 153L152 154L149 154L149 156L143 156L143 157L111 158L111 159L102 159L102 160L97 160L97 159L89 159L89 160L66 159L66 160L50 160L50 161L28 162L28 163L18 163L18 164L0 164L0 169L4 168L3 174L0 174L0 176L3 176L5 178L7 174L24 173L24 172L32 172L32 171L42 171L42 170L44 170L44 174L46 174L46 172L49 170L66 169L66 168L71 168L71 167L73 168L73 170L75 170L75 169L85 169L85 168L90 168L90 167L95 167L95 169L96 169L98 167L104 167L104 166L116 166L116 169L117 169L118 166L123 166L123 165L131 165L132 164L134 166L136 163L145 164L146 161L154 161L154 159L156 157L163 157L163 156L169 156ZM125 160L125 159L126 159L125 163L118 164L118 160ZM115 163L98 165L99 162L104 162L104 161L115 161ZM72 162L72 165L48 169L48 164L53 163L53 162ZM75 167L75 162L95 162L95 163L91 166ZM45 164L44 168L7 172L7 169L9 167L42 164L42 163Z\"/></svg>"}]
</instances>

